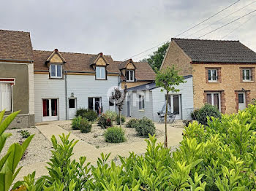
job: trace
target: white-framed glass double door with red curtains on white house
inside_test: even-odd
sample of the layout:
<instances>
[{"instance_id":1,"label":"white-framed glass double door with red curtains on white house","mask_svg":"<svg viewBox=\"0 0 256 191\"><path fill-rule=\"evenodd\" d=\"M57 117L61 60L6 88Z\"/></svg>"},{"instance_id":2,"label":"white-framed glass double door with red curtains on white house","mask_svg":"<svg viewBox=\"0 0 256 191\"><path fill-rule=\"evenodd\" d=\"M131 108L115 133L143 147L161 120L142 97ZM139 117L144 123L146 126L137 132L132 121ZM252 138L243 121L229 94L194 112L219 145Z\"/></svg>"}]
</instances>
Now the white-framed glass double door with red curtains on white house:
<instances>
[{"instance_id":1,"label":"white-framed glass double door with red curtains on white house","mask_svg":"<svg viewBox=\"0 0 256 191\"><path fill-rule=\"evenodd\" d=\"M42 121L59 120L58 99L42 99Z\"/></svg>"}]
</instances>

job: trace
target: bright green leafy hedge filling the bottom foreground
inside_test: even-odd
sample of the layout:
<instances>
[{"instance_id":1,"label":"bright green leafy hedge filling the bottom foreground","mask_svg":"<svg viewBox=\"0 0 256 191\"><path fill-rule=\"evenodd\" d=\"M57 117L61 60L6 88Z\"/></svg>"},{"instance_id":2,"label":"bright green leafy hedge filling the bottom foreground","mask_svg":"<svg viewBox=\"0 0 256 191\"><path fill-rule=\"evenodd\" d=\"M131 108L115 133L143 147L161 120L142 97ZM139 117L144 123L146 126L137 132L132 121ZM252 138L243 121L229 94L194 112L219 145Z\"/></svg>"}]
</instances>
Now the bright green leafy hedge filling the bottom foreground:
<instances>
[{"instance_id":1,"label":"bright green leafy hedge filling the bottom foreground","mask_svg":"<svg viewBox=\"0 0 256 191\"><path fill-rule=\"evenodd\" d=\"M175 152L149 136L145 155L131 152L119 157L121 165L108 161L110 154L101 154L97 165L86 157L71 161L75 141L63 135L57 144L54 137L48 176L34 182L32 174L22 183L27 190L256 190L255 130L250 105L222 120L208 117L206 126L189 124Z\"/></svg>"}]
</instances>

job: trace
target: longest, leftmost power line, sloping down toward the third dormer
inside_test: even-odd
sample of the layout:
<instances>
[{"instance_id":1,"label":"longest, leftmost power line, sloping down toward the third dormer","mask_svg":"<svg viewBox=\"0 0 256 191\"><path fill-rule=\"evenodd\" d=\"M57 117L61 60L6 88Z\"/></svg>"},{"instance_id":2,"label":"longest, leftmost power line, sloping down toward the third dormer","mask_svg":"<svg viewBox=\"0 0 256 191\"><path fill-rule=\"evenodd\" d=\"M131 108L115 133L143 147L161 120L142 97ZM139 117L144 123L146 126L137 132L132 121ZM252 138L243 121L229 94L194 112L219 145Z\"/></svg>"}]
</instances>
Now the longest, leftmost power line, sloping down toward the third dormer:
<instances>
[{"instance_id":1,"label":"longest, leftmost power line, sloping down toward the third dormer","mask_svg":"<svg viewBox=\"0 0 256 191\"><path fill-rule=\"evenodd\" d=\"M239 1L241 1L241 0L236 1L236 2L234 2L233 4L230 4L229 6L225 7L224 9L222 9L222 10L220 10L219 12L215 13L214 15L211 15L211 16L208 17L206 20L203 20L203 21L201 21L200 23L197 23L195 26L192 26L191 28L187 29L186 31L181 32L181 34L184 34L184 33L186 33L187 31L190 31L192 28L195 28L196 26L199 26L200 24L206 22L207 20L211 19L212 17L218 15L220 12L223 12L223 11L225 11L226 9L232 7L234 4L237 4ZM178 34L178 35L176 35L176 36L174 36L174 37L180 36L181 34ZM135 56L137 56L137 55L141 55L141 54L143 54L143 53L145 53L145 52L148 52L149 50L153 50L153 49L155 49L156 47L159 47L160 45L165 44L166 42L169 42L169 41L170 41L170 39L167 39L167 41L162 42L162 43L159 43L159 44L157 44L156 46L151 47L151 48L149 48L149 49L147 49L147 50L144 50L143 52L140 52L140 53L138 53L138 54L136 54L136 55L132 55L132 56L130 56L129 58L133 58L133 57L135 57ZM123 59L123 60L121 60L121 61L126 61L126 60L129 59L129 58Z\"/></svg>"}]
</instances>

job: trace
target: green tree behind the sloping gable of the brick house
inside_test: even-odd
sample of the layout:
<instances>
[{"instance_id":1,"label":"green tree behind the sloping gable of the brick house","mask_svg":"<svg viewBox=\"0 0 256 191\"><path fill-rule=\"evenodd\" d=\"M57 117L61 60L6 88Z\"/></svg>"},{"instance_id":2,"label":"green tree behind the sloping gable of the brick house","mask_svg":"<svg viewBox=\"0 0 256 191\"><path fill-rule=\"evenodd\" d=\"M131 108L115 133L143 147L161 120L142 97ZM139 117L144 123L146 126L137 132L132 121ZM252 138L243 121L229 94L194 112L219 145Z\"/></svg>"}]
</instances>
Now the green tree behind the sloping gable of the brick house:
<instances>
[{"instance_id":1,"label":"green tree behind the sloping gable of the brick house","mask_svg":"<svg viewBox=\"0 0 256 191\"><path fill-rule=\"evenodd\" d=\"M162 61L165 58L165 53L167 51L167 48L169 46L170 42L166 42L162 45L162 47L159 47L157 51L153 52L152 55L149 55L149 58L144 58L142 61L149 63L152 69L154 71L159 71Z\"/></svg>"}]
</instances>

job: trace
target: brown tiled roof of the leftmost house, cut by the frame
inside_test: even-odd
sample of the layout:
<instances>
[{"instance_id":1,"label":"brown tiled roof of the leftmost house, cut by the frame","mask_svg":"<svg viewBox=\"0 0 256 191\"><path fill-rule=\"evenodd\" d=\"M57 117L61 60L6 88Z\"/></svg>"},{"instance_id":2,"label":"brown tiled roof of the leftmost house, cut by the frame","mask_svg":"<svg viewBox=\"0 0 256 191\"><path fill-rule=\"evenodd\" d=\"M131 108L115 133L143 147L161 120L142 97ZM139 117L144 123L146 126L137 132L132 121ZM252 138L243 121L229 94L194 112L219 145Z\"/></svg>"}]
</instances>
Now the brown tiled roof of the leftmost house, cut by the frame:
<instances>
[{"instance_id":1,"label":"brown tiled roof of the leftmost house, cut by the frame","mask_svg":"<svg viewBox=\"0 0 256 191\"><path fill-rule=\"evenodd\" d=\"M29 32L0 30L0 60L33 61Z\"/></svg>"}]
</instances>

